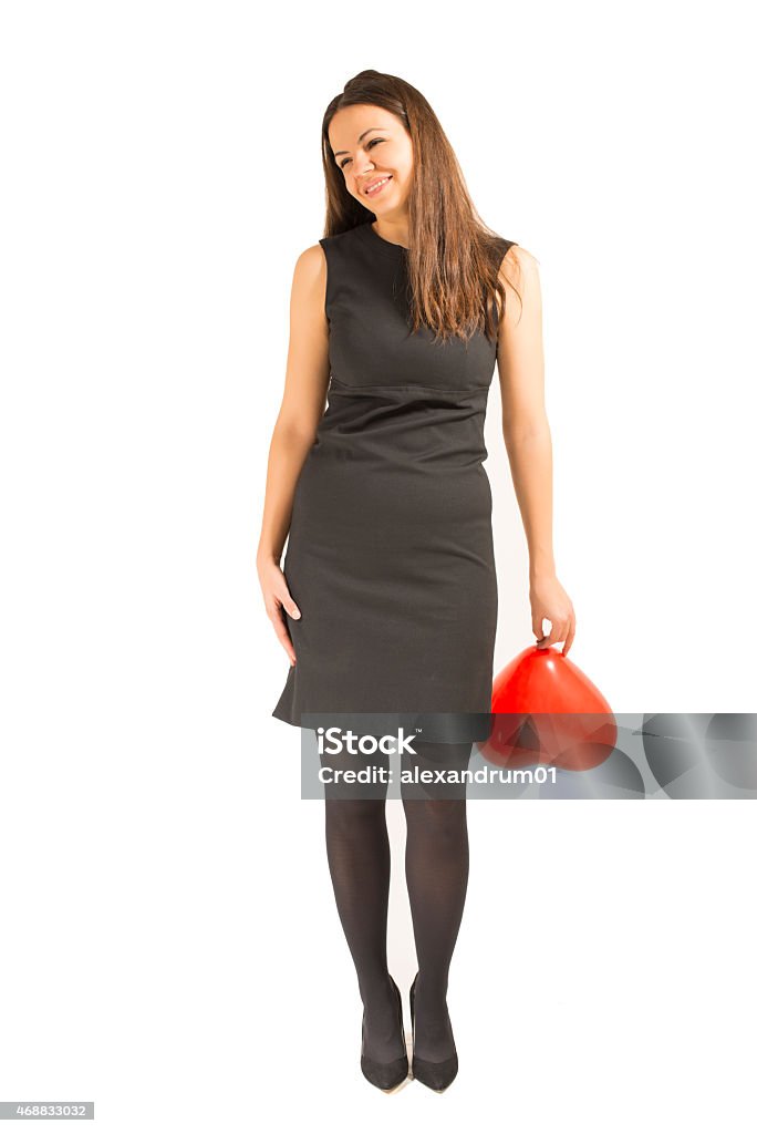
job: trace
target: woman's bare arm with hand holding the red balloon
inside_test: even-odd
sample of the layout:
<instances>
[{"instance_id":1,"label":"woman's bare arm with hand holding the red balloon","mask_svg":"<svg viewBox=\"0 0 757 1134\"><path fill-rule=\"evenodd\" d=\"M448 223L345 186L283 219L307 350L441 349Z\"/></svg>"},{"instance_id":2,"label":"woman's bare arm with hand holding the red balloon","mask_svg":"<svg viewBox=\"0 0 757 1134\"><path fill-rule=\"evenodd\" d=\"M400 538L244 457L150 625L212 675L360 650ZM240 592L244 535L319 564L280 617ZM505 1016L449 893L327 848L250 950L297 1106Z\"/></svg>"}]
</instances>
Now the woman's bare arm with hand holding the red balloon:
<instances>
[{"instance_id":1,"label":"woman's bare arm with hand holding the red balloon","mask_svg":"<svg viewBox=\"0 0 757 1134\"><path fill-rule=\"evenodd\" d=\"M544 398L537 261L513 245L502 261L500 276L507 290L497 338L502 433L528 543L531 628L541 648L564 642L562 652L567 654L576 632L576 615L558 581L552 547L552 437ZM552 624L546 636L543 618Z\"/></svg>"}]
</instances>

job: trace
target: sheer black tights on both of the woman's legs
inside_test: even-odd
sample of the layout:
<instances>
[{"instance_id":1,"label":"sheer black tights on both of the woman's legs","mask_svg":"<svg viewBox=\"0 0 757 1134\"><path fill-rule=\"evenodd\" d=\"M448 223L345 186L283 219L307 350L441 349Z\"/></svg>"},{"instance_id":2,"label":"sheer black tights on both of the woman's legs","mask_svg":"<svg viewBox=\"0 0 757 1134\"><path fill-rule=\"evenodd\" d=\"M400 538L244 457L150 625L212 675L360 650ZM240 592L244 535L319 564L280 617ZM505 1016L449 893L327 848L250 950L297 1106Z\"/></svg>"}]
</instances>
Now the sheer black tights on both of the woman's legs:
<instances>
[{"instance_id":1,"label":"sheer black tights on both of the woman's legs","mask_svg":"<svg viewBox=\"0 0 757 1134\"><path fill-rule=\"evenodd\" d=\"M465 769L470 760L469 743L416 742L415 747L417 755L402 756L403 770ZM405 873L418 958L416 1052L436 1061L453 1051L446 988L468 886L465 788L403 784L401 792ZM405 1041L386 960L391 862L385 793L382 798L340 798L326 789L325 829L337 908L365 1007L366 1055L389 1063L403 1053Z\"/></svg>"}]
</instances>

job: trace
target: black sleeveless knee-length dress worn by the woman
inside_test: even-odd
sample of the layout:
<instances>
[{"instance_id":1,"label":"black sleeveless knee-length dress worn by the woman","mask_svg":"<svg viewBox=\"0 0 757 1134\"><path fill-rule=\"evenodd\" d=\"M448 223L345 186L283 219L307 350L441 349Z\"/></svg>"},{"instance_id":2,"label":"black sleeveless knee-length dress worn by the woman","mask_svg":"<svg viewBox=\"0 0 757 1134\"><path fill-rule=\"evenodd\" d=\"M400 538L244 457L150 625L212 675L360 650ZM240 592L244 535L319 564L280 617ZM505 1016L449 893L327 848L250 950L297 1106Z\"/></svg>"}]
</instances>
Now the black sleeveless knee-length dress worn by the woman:
<instances>
[{"instance_id":1,"label":"black sleeveless knee-length dress worn by the woman","mask_svg":"<svg viewBox=\"0 0 757 1134\"><path fill-rule=\"evenodd\" d=\"M500 238L500 260L513 243ZM331 381L294 498L282 570L301 613L283 611L297 665L272 716L488 714L496 341L414 333L407 252L372 222L320 244Z\"/></svg>"}]
</instances>

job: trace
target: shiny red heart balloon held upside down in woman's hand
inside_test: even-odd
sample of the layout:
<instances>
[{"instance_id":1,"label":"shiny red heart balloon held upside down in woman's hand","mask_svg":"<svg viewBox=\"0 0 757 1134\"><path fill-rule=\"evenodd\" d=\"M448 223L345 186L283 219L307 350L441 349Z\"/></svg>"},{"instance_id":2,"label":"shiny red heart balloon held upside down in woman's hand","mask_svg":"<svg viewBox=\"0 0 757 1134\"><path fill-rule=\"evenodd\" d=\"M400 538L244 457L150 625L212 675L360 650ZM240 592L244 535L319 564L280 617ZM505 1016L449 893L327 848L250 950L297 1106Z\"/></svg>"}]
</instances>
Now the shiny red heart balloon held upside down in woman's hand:
<instances>
[{"instance_id":1,"label":"shiny red heart balloon held upside down in woman's hand","mask_svg":"<svg viewBox=\"0 0 757 1134\"><path fill-rule=\"evenodd\" d=\"M605 697L553 646L528 646L497 674L492 713L492 731L477 747L502 768L586 771L603 763L618 739Z\"/></svg>"}]
</instances>

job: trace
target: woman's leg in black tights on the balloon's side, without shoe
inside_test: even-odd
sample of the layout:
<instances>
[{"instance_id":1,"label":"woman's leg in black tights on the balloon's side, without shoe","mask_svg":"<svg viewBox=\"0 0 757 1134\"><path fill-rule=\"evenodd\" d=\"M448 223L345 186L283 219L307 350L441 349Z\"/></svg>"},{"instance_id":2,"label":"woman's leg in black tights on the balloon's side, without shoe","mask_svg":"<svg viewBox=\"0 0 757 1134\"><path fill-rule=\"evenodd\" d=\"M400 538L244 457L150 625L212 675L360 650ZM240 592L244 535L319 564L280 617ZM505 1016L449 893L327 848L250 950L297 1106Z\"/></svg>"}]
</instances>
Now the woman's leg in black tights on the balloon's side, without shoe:
<instances>
[{"instance_id":1,"label":"woman's leg in black tights on the balloon's side, without shoe","mask_svg":"<svg viewBox=\"0 0 757 1134\"><path fill-rule=\"evenodd\" d=\"M417 743L408 767L467 769L471 744ZM405 870L418 957L415 985L415 1053L441 1061L454 1052L446 987L468 888L465 786L423 785L406 792Z\"/></svg>"}]
</instances>

